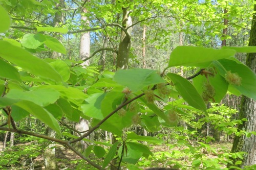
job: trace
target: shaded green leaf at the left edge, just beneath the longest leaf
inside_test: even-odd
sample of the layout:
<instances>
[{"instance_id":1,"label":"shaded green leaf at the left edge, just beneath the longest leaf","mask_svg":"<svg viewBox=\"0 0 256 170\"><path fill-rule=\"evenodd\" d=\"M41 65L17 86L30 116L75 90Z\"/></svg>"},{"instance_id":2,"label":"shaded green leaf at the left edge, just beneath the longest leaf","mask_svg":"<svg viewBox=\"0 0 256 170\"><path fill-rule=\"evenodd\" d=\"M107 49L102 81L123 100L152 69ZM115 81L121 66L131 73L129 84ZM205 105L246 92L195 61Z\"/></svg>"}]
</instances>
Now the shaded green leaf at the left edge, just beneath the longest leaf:
<instances>
[{"instance_id":1,"label":"shaded green leaf at the left edge, just beneath the longest leaf","mask_svg":"<svg viewBox=\"0 0 256 170\"><path fill-rule=\"evenodd\" d=\"M12 65L10 65L9 63L1 59L0 59L0 68L1 68L0 77L7 78L7 79L14 79L19 82L22 81L22 79L20 79L20 76L18 74L18 70Z\"/></svg>"}]
</instances>

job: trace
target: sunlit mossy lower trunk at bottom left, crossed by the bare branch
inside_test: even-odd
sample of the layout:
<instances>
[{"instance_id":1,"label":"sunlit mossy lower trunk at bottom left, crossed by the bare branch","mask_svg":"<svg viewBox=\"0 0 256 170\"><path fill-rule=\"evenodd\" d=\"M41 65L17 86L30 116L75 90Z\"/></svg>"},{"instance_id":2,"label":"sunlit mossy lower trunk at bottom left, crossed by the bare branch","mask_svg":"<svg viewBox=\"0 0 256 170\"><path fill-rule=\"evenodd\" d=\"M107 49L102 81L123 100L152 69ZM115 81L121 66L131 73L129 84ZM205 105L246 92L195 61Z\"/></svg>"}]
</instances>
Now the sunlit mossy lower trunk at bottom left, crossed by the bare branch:
<instances>
[{"instance_id":1,"label":"sunlit mossy lower trunk at bottom left, crossed by the bare branch","mask_svg":"<svg viewBox=\"0 0 256 170\"><path fill-rule=\"evenodd\" d=\"M47 127L47 136L55 137L56 133L54 130L51 128ZM57 168L57 163L56 163L56 157L55 157L55 143L52 142L51 144L48 145L45 149L44 153L44 159L45 159L45 167L46 169L49 170L55 170Z\"/></svg>"}]
</instances>

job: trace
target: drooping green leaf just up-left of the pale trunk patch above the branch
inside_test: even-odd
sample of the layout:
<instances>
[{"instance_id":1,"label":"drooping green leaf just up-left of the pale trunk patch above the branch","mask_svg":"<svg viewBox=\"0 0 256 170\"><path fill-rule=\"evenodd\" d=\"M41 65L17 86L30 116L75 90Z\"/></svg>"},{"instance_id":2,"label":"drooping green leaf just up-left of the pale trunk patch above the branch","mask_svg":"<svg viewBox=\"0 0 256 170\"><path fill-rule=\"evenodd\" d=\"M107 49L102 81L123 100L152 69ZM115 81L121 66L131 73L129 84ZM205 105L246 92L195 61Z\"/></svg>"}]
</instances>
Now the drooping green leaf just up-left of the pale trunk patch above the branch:
<instances>
[{"instance_id":1,"label":"drooping green leaf just up-left of the pale trunk patch above the branch","mask_svg":"<svg viewBox=\"0 0 256 170\"><path fill-rule=\"evenodd\" d=\"M57 101L57 105L62 109L62 112L65 113L68 119L74 122L79 122L79 114L73 112L73 109L67 100L60 98Z\"/></svg>"}]
</instances>

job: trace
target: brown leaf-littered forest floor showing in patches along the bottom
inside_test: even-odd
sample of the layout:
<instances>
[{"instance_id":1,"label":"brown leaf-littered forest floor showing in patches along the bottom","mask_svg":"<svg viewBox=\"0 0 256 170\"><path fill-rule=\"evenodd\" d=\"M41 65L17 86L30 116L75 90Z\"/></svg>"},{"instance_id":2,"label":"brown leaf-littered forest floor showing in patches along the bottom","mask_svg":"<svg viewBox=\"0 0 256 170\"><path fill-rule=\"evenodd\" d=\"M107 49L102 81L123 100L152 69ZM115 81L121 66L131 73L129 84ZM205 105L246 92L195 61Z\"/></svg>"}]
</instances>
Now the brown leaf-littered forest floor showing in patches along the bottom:
<instances>
[{"instance_id":1,"label":"brown leaf-littered forest floor showing in patches along the bottom","mask_svg":"<svg viewBox=\"0 0 256 170\"><path fill-rule=\"evenodd\" d=\"M24 145L28 145L28 143L25 143ZM23 146L20 145L20 148L22 148ZM212 148L216 148L218 152L222 152L223 148L225 150L231 150L232 147L232 143L230 142L218 142L218 143L212 143L211 144ZM0 142L0 155L2 152L2 148L3 148L3 142ZM161 152L166 152L166 151L173 151L173 150L177 150L177 148L173 148L172 150L169 150L167 145L154 145L151 146L152 148L152 152L153 153L160 153ZM81 158L79 156L77 156L74 152L72 152L71 150L63 147L60 144L56 144L55 147L55 151L56 151L56 161L57 161L57 167L60 170L71 170L71 169L88 169L88 168L84 168L84 166L86 165L85 163L81 163L83 162L81 160ZM202 150L202 152L205 152L204 150ZM208 158L217 158L218 156L214 153L211 152L205 152L204 153ZM93 159L90 158L90 159ZM183 159L182 161L186 161L185 158L181 158ZM168 160L166 160L167 162ZM0 159L1 162L1 159ZM25 163L26 162L26 163ZM156 162L152 162L152 164L154 166L164 166L163 164L159 163L158 161ZM81 165L81 168L77 168L77 166ZM15 163L12 166L9 167L2 167L0 169L12 169L12 170L16 170L16 169L35 169L35 170L41 170L41 169L45 169L44 166L44 154L41 153L39 156L37 156L36 158L34 158L32 161L29 158L24 158L24 160L19 160L19 163Z\"/></svg>"}]
</instances>

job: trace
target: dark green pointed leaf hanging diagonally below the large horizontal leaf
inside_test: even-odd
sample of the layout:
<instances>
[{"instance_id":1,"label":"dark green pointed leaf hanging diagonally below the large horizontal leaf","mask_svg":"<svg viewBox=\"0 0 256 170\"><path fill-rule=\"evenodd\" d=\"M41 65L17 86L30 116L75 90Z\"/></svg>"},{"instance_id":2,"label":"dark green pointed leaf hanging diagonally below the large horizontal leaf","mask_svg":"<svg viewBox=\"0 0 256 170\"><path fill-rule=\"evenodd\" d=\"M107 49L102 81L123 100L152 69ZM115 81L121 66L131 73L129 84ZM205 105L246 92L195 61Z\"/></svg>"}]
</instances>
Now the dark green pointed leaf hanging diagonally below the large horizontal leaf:
<instances>
[{"instance_id":1,"label":"dark green pointed leaf hanging diagonally below the large horizontal leaf","mask_svg":"<svg viewBox=\"0 0 256 170\"><path fill-rule=\"evenodd\" d=\"M167 74L167 77L172 80L177 91L190 106L193 106L196 109L202 110L207 113L202 96L188 80L172 73Z\"/></svg>"}]
</instances>

